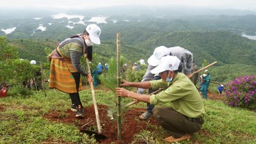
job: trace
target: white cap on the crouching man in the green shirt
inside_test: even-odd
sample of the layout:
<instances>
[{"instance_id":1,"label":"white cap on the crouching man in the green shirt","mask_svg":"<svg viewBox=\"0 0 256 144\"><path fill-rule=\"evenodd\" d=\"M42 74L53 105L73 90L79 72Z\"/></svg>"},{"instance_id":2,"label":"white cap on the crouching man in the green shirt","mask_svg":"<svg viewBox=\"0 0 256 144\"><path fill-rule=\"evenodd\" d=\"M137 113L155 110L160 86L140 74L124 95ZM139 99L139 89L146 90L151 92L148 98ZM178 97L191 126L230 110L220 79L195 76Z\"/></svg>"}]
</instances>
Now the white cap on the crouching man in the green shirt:
<instances>
[{"instance_id":1,"label":"white cap on the crouching man in the green shirt","mask_svg":"<svg viewBox=\"0 0 256 144\"><path fill-rule=\"evenodd\" d=\"M159 65L152 69L150 72L152 74L158 74L165 70L177 70L180 65L180 60L176 56L164 56L161 58Z\"/></svg>"}]
</instances>

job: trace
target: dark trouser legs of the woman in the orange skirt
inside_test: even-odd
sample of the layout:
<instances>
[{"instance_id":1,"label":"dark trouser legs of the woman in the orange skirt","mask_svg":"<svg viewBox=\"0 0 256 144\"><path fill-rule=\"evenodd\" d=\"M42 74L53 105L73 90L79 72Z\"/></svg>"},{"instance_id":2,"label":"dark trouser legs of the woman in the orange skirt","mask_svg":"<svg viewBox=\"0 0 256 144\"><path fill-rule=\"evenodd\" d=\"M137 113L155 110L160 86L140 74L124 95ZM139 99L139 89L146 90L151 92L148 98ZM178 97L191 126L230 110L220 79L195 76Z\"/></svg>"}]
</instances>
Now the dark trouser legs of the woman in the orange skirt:
<instances>
[{"instance_id":1,"label":"dark trouser legs of the woman in the orange skirt","mask_svg":"<svg viewBox=\"0 0 256 144\"><path fill-rule=\"evenodd\" d=\"M72 76L74 77L75 82L76 82L77 92L76 93L69 93L69 96L71 98L72 104L74 104L76 107L78 105L81 105L81 107L83 108L83 105L82 105L82 102L80 100L79 93L78 93L79 92L79 83L80 83L81 74L79 72L72 72Z\"/></svg>"}]
</instances>

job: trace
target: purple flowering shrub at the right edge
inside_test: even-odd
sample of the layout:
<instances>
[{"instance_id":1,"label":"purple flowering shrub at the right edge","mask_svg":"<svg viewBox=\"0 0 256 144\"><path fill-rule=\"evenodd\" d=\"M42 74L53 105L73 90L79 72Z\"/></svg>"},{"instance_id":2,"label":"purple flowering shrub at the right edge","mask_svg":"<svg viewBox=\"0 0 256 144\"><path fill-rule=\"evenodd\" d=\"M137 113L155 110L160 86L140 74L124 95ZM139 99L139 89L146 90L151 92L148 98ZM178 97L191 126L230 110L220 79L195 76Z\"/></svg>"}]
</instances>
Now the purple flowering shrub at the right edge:
<instances>
[{"instance_id":1,"label":"purple flowering shrub at the right edge","mask_svg":"<svg viewBox=\"0 0 256 144\"><path fill-rule=\"evenodd\" d=\"M227 83L225 89L228 105L256 108L256 77L254 75L239 76L234 81Z\"/></svg>"}]
</instances>

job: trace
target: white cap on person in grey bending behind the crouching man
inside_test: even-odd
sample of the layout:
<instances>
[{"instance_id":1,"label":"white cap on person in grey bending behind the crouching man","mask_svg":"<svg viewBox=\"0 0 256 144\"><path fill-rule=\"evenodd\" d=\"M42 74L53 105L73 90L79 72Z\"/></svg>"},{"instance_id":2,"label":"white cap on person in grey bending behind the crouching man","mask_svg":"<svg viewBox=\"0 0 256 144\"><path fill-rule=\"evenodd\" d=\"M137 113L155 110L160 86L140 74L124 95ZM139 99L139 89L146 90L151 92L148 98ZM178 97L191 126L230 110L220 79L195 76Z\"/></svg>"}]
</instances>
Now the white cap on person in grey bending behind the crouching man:
<instances>
[{"instance_id":1,"label":"white cap on person in grey bending behind the crouching man","mask_svg":"<svg viewBox=\"0 0 256 144\"><path fill-rule=\"evenodd\" d=\"M157 47L154 50L154 53L152 54L152 56L150 56L148 58L148 64L155 67L159 64L160 59L163 56L166 56L166 55L169 55L169 54L170 54L170 52L168 51L167 47L164 47L164 46Z\"/></svg>"}]
</instances>

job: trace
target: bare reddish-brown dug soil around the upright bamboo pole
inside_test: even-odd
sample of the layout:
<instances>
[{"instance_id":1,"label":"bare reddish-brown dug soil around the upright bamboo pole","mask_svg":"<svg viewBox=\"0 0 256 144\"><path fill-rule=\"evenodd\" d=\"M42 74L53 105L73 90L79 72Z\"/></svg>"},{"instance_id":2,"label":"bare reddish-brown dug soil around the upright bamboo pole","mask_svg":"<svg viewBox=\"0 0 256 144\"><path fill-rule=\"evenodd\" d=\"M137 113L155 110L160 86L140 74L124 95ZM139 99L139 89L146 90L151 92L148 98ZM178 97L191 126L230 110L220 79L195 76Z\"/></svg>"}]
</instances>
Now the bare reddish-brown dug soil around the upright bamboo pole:
<instances>
[{"instance_id":1,"label":"bare reddish-brown dug soil around the upright bamboo pole","mask_svg":"<svg viewBox=\"0 0 256 144\"><path fill-rule=\"evenodd\" d=\"M117 140L117 122L116 120L110 120L108 116L108 107L104 105L99 105L99 117L100 124L102 125L102 134L107 138L104 140L97 140L99 143L131 143L133 140L133 136L138 134L141 130L146 129L147 123L158 125L154 118L150 118L149 120L140 120L138 116L145 111L145 109L131 109L130 111L126 111L121 126L121 140ZM55 122L63 122L63 123L71 123L76 125L77 127L81 127L86 124L87 121L92 121L93 123L90 125L94 125L97 127L95 111L93 105L90 108L84 108L85 118L77 119L75 118L75 112L70 110L66 111L67 115L61 114L58 111L52 111L45 115L45 118ZM115 116L115 115L114 115ZM88 125L90 127L90 125ZM149 131L154 131L154 129L148 129ZM97 131L95 131L97 132Z\"/></svg>"}]
</instances>

